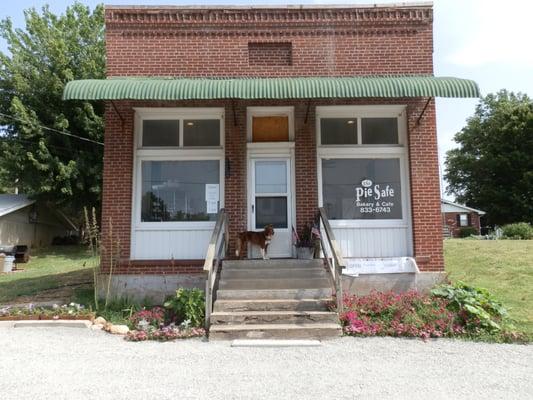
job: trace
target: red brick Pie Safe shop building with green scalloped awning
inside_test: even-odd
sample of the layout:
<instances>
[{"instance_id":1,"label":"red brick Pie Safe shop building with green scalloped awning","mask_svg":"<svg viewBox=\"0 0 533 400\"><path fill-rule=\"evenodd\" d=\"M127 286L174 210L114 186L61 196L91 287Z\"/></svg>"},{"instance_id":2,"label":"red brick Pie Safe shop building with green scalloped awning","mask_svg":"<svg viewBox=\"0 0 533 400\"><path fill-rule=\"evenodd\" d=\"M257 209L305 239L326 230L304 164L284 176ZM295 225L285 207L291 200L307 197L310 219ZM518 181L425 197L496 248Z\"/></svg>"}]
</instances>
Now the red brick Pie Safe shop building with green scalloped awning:
<instances>
[{"instance_id":1,"label":"red brick Pie Safe shop building with green scalloped awning","mask_svg":"<svg viewBox=\"0 0 533 400\"><path fill-rule=\"evenodd\" d=\"M294 257L292 228L323 207L360 272L348 288L394 285L406 262L443 272L434 98L479 91L433 76L431 4L107 6L105 22L108 79L64 98L106 102L103 270L113 260L117 292L204 287L222 208L226 258L268 223L270 257Z\"/></svg>"}]
</instances>

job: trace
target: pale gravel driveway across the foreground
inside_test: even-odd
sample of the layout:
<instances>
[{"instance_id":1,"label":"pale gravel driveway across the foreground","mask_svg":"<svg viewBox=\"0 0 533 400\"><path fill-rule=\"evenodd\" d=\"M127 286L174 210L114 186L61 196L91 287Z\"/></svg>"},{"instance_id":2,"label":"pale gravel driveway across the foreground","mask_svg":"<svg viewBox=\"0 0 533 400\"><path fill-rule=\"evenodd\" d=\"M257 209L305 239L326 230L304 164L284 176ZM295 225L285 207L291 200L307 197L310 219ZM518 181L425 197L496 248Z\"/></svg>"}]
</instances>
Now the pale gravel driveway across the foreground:
<instances>
[{"instance_id":1,"label":"pale gravel driveway across the foreground","mask_svg":"<svg viewBox=\"0 0 533 400\"><path fill-rule=\"evenodd\" d=\"M231 348L3 328L0 398L531 399L533 346L342 338L313 348Z\"/></svg>"}]
</instances>

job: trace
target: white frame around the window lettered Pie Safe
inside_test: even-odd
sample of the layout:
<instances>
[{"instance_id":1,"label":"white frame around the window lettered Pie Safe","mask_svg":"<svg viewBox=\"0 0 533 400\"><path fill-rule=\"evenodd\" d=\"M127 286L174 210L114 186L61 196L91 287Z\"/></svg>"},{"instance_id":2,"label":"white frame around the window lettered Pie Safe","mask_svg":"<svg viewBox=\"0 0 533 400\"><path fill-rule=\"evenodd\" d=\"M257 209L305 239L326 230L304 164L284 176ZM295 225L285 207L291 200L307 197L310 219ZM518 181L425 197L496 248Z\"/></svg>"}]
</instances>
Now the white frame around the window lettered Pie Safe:
<instances>
[{"instance_id":1,"label":"white frame around the window lettered Pie Safe","mask_svg":"<svg viewBox=\"0 0 533 400\"><path fill-rule=\"evenodd\" d=\"M357 118L358 144L322 145L321 118ZM361 118L397 118L398 144L361 144ZM400 160L400 184L402 201L401 219L336 219L330 220L334 228L407 228L411 229L411 205L409 182L409 157L407 152L407 117L405 105L382 106L317 106L317 180L318 204L324 204L322 192L322 160L324 159L375 159L398 158Z\"/></svg>"}]
</instances>

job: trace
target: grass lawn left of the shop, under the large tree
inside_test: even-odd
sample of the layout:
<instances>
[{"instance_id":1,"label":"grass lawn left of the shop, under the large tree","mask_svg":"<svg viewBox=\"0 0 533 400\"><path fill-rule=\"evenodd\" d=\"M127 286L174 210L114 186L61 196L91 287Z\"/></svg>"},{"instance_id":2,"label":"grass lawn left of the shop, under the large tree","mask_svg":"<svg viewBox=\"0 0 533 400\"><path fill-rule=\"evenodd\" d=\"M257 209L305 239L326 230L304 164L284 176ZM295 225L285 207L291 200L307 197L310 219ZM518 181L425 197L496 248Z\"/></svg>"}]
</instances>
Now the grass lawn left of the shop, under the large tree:
<instances>
[{"instance_id":1,"label":"grass lawn left of the shop, under the large tree","mask_svg":"<svg viewBox=\"0 0 533 400\"><path fill-rule=\"evenodd\" d=\"M22 271L0 274L0 304L35 295L46 301L46 293L52 291L53 296L68 296L73 288L92 282L91 261L86 246L32 249L30 261L17 264Z\"/></svg>"}]
</instances>

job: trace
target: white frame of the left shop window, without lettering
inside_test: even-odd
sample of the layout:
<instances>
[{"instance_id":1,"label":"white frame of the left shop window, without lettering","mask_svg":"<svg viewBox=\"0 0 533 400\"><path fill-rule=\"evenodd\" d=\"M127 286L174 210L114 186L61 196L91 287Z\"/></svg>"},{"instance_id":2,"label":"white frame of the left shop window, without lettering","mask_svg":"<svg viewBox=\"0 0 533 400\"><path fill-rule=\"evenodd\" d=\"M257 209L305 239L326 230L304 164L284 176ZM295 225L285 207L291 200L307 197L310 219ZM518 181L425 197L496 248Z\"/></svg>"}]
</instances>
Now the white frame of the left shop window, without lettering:
<instances>
[{"instance_id":1,"label":"white frame of the left shop window, without lettering","mask_svg":"<svg viewBox=\"0 0 533 400\"><path fill-rule=\"evenodd\" d=\"M219 161L219 208L224 207L224 109L223 108L134 108L135 152L132 190L132 242L135 230L210 230L216 221L141 222L142 162L143 161ZM142 145L142 126L146 119L176 119L180 121L180 147L145 147ZM220 119L220 146L183 147L184 119ZM133 246L132 246L133 249Z\"/></svg>"}]
</instances>

